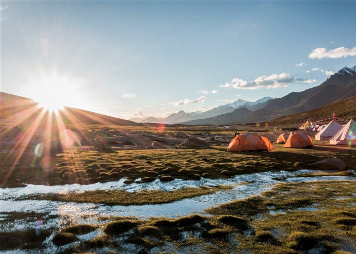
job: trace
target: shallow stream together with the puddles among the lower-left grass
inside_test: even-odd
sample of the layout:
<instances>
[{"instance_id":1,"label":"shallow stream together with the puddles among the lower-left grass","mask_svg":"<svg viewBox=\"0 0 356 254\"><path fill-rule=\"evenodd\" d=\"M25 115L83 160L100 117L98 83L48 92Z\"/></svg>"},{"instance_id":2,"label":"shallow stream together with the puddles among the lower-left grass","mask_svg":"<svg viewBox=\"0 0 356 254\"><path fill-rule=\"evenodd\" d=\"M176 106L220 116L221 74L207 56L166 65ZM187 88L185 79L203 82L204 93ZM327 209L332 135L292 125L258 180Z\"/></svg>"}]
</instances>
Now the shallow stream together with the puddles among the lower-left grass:
<instances>
[{"instance_id":1,"label":"shallow stream together with the puddles among the lower-left grass","mask_svg":"<svg viewBox=\"0 0 356 254\"><path fill-rule=\"evenodd\" d=\"M97 183L92 185L64 185L64 186L38 186L27 185L25 188L11 188L0 189L0 212L41 212L47 214L58 214L58 219L50 219L45 222L42 228L62 228L68 221L72 224L79 223L99 223L98 216L137 216L141 218L148 218L151 216L165 216L165 217L178 217L191 213L203 212L204 209L209 207L218 206L222 203L227 203L235 199L247 198L252 195L258 195L262 191L270 190L273 185L278 182L307 182L307 181L322 181L322 180L354 180L353 177L345 176L324 176L324 177L295 177L296 174L310 173L314 170L298 170L296 172L264 172L247 175L237 175L234 178L229 179L201 179L200 181L184 181L175 179L169 183L162 183L156 180L153 183L141 183L126 185L123 183L125 179L121 179L117 182ZM277 177L285 180L273 180ZM93 190L113 190L123 189L126 191L140 191L140 190L165 190L173 191L175 189L182 189L186 187L201 187L201 186L216 186L218 184L223 185L236 185L239 183L250 182L248 184L237 185L231 190L218 191L214 194L203 195L194 198L187 198L184 200L176 201L168 204L159 205L142 205L142 206L107 206L101 204L78 204L74 202L57 202L57 201L45 201L45 200L23 200L16 201L15 199L23 195L39 194L39 193L66 193L68 191L93 191ZM271 211L272 212L272 211ZM282 212L282 211L274 211ZM283 211L284 212L284 211ZM28 227L35 227L35 223L29 223L30 225L24 225L22 220L10 223L9 227L2 227L2 230L22 230ZM33 225L32 225L33 224ZM65 250L76 243L71 243L62 247L57 247L52 243L52 238L56 231L51 236L47 237L44 241L45 249L41 250L43 253L58 253L65 252ZM89 240L97 235L102 234L101 229L97 229L92 233L79 236L81 240ZM131 244L125 244L122 253L134 254L138 252L137 247ZM191 248L191 247L189 247ZM198 248L198 247L196 247ZM174 246L163 246L151 250L154 251L171 251L176 250ZM107 253L109 248L93 249L96 253ZM183 250L176 250L177 253L184 253ZM183 251L183 252L182 252ZM34 251L25 250L11 250L0 251L0 254L28 254L37 253Z\"/></svg>"}]
</instances>

